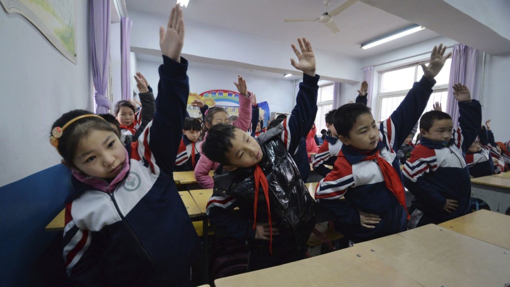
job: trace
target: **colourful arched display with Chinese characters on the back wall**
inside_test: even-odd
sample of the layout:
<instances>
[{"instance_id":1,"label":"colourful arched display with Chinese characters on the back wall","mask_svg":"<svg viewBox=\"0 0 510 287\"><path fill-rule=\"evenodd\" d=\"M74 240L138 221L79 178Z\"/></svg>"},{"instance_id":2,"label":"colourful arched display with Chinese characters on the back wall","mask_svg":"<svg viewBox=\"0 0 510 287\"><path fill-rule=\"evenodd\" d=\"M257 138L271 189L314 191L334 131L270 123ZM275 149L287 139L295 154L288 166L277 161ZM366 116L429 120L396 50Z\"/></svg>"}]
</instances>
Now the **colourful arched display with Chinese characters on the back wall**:
<instances>
[{"instance_id":1,"label":"colourful arched display with Chinese characters on the back wall","mask_svg":"<svg viewBox=\"0 0 510 287\"><path fill-rule=\"evenodd\" d=\"M239 92L231 90L209 90L202 93L191 93L188 96L187 110L190 116L201 117L200 108L193 107L191 103L194 100L200 100L211 107L222 107L228 113L228 116L239 116Z\"/></svg>"}]
</instances>

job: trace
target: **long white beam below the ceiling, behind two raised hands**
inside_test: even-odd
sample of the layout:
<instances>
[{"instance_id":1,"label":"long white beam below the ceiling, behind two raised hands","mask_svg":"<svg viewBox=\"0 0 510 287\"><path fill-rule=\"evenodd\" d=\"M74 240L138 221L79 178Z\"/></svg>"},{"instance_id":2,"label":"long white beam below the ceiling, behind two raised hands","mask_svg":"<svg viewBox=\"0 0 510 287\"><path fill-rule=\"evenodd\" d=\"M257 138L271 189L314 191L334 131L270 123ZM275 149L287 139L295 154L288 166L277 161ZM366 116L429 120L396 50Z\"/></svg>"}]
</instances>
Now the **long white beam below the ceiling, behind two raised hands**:
<instances>
[{"instance_id":1,"label":"long white beam below the ceiling, behind two raised hands","mask_svg":"<svg viewBox=\"0 0 510 287\"><path fill-rule=\"evenodd\" d=\"M133 19L132 47L158 54L158 29L165 25L168 18L131 10L129 15ZM294 68L289 65L289 59L295 58L290 44L187 21L183 54L225 60L237 66L268 67L275 73L295 74ZM360 59L319 49L314 49L314 53L317 58L317 74L324 79L335 78L345 83L359 80L356 69Z\"/></svg>"}]
</instances>

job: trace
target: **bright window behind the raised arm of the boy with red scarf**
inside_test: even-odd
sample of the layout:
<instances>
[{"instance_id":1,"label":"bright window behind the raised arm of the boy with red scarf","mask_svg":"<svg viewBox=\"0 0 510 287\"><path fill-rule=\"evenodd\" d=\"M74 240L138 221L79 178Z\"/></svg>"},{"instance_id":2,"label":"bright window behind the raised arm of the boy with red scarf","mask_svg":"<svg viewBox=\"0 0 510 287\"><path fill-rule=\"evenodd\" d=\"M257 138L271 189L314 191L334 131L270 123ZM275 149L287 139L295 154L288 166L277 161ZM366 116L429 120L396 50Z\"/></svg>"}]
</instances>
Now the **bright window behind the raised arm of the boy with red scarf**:
<instances>
[{"instance_id":1,"label":"bright window behind the raised arm of the boy with red scarf","mask_svg":"<svg viewBox=\"0 0 510 287\"><path fill-rule=\"evenodd\" d=\"M378 121L384 121L390 117L391 113L397 109L407 92L423 76L421 63L410 66L399 67L397 69L384 71L380 73L380 88L377 95L377 118ZM451 59L446 60L445 65L438 76L436 76L436 85L432 88L425 112L432 109L434 103L441 103L443 111L446 111L448 81L450 77Z\"/></svg>"}]
</instances>

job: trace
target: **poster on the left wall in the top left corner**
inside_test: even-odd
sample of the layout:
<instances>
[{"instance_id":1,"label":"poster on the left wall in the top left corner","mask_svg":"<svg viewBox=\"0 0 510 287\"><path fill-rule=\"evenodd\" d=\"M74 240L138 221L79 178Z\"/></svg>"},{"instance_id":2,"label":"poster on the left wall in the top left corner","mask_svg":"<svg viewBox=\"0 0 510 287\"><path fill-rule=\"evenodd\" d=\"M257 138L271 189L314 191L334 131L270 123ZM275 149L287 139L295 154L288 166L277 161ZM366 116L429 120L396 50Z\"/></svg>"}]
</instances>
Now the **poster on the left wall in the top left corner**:
<instances>
[{"instance_id":1,"label":"poster on the left wall in the top left corner","mask_svg":"<svg viewBox=\"0 0 510 287\"><path fill-rule=\"evenodd\" d=\"M76 63L76 7L69 0L0 0L7 13L27 18L55 48Z\"/></svg>"}]
</instances>

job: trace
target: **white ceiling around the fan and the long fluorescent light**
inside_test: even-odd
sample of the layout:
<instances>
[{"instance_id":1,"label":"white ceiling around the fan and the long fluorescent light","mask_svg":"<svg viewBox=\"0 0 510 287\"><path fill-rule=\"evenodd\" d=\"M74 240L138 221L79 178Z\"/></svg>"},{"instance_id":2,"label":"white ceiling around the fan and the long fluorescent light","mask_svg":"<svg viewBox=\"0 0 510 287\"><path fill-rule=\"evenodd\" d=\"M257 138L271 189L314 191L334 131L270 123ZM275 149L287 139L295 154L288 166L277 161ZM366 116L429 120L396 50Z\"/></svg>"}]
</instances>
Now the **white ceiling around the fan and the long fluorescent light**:
<instances>
[{"instance_id":1,"label":"white ceiling around the fan and the long fluorescent light","mask_svg":"<svg viewBox=\"0 0 510 287\"><path fill-rule=\"evenodd\" d=\"M138 10L167 16L175 0L125 0L127 11ZM331 0L328 11L346 0ZM362 2L335 16L340 32L331 33L325 25L315 22L284 22L285 18L317 18L324 12L322 0L190 0L184 8L187 21L257 35L292 43L305 36L314 48L350 57L366 58L440 36L422 30L410 36L373 47L360 49L360 44L413 25Z\"/></svg>"}]
</instances>

